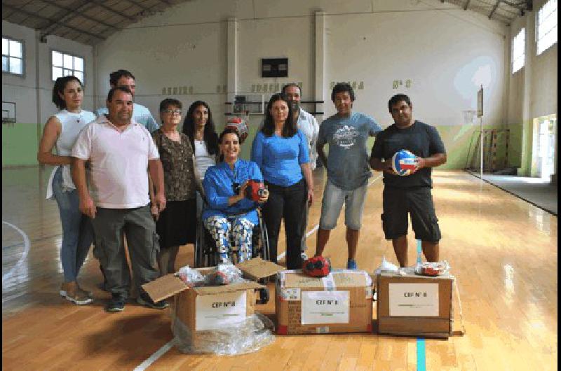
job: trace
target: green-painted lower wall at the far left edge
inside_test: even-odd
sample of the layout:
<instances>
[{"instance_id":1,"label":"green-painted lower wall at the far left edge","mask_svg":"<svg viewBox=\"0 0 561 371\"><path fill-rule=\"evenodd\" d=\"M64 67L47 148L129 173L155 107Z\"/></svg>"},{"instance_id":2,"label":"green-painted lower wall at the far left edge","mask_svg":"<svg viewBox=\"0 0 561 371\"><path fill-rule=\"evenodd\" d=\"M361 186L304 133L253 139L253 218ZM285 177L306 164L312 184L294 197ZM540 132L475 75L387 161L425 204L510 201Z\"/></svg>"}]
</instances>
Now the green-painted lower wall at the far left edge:
<instances>
[{"instance_id":1,"label":"green-painted lower wall at the far left edge","mask_svg":"<svg viewBox=\"0 0 561 371\"><path fill-rule=\"evenodd\" d=\"M37 124L2 124L2 167L39 165Z\"/></svg>"}]
</instances>

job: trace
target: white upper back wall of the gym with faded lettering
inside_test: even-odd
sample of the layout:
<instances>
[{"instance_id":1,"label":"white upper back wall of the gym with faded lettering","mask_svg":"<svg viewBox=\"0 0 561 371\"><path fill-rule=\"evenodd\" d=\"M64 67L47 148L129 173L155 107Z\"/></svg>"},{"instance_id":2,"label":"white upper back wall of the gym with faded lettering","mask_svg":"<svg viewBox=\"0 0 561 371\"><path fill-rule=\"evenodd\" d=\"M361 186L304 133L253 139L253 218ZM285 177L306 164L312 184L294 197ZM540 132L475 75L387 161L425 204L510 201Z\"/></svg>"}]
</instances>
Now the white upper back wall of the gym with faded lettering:
<instances>
[{"instance_id":1,"label":"white upper back wall of the gym with faded lettering","mask_svg":"<svg viewBox=\"0 0 561 371\"><path fill-rule=\"evenodd\" d=\"M314 97L314 13L325 12L325 81ZM304 99L323 99L334 113L330 84L363 82L356 109L390 121L389 97L410 94L417 117L433 125L462 125L462 111L476 108L483 84L489 123L504 120L508 29L484 15L452 9L435 0L272 1L194 0L128 27L97 47L98 102L109 89L111 71L129 69L137 78L136 101L155 112L162 87L193 87L178 94L185 105L210 103L223 123L228 99L227 19L238 31L238 93L252 85L302 82ZM436 26L438 25L438 26ZM262 57L288 57L288 78L261 78ZM393 80L411 79L393 89ZM253 87L255 89L255 87ZM269 89L268 91L269 92ZM229 92L233 93L233 92ZM311 107L310 107L311 108ZM255 118L255 120L260 120Z\"/></svg>"}]
</instances>

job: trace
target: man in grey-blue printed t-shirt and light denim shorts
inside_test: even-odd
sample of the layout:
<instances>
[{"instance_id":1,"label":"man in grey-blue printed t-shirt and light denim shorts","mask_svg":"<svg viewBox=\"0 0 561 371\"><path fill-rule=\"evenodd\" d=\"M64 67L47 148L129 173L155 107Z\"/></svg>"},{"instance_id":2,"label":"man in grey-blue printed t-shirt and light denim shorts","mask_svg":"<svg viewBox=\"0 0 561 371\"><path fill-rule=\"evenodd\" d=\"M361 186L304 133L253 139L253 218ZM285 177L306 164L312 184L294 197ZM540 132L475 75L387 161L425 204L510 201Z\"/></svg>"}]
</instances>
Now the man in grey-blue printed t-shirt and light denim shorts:
<instances>
[{"instance_id":1,"label":"man in grey-blue printed t-shirt and light denim shorts","mask_svg":"<svg viewBox=\"0 0 561 371\"><path fill-rule=\"evenodd\" d=\"M363 218L368 179L366 140L381 131L373 118L353 112L355 93L351 85L338 83L333 87L331 100L337 113L324 120L318 135L318 157L327 169L327 182L321 202L320 226L316 242L316 256L322 255L330 231L345 203L346 243L349 248L347 269L356 269L356 246ZM329 155L323 147L329 144Z\"/></svg>"}]
</instances>

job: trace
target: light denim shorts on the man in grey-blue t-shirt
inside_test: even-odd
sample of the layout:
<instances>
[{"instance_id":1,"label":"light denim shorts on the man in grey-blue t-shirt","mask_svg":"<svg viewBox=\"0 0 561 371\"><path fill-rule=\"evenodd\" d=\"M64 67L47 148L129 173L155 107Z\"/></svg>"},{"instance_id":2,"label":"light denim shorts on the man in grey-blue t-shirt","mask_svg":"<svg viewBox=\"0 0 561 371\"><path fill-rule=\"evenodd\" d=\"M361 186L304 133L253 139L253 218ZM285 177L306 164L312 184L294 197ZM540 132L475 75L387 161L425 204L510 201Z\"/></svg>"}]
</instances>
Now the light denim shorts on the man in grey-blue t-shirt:
<instances>
[{"instance_id":1,"label":"light denim shorts on the man in grey-blue t-shirt","mask_svg":"<svg viewBox=\"0 0 561 371\"><path fill-rule=\"evenodd\" d=\"M344 203L345 225L353 230L360 230L367 187L368 183L365 183L355 190L342 190L327 179L321 202L320 228L332 230L337 226L337 218Z\"/></svg>"}]
</instances>

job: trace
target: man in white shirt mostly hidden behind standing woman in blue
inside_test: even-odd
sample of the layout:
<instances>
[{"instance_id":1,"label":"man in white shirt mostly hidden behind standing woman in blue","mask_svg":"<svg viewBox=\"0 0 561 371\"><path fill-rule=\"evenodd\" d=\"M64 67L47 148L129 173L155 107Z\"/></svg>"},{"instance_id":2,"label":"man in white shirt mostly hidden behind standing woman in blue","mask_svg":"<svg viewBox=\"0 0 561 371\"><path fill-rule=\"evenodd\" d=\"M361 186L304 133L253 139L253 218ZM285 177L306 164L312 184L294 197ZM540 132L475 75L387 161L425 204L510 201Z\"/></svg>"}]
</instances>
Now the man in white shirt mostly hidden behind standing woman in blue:
<instances>
[{"instance_id":1,"label":"man in white shirt mostly hidden behind standing woman in blue","mask_svg":"<svg viewBox=\"0 0 561 371\"><path fill-rule=\"evenodd\" d=\"M283 90L281 93L286 97L288 102L292 104L292 112L294 113L294 117L297 120L297 127L299 130L302 130L306 138L308 139L308 148L309 148L309 158L310 158L310 169L316 169L316 160L318 159L318 151L316 149L316 142L318 141L318 132L320 131L320 127L318 125L318 121L315 117L304 111L300 107L300 99L302 98L302 88L295 84L290 83L283 86ZM309 207L304 208L303 218L305 218L305 223L302 223L302 227L304 231L302 233L302 259L306 260L308 257L306 256L306 228L308 225L308 209Z\"/></svg>"}]
</instances>

